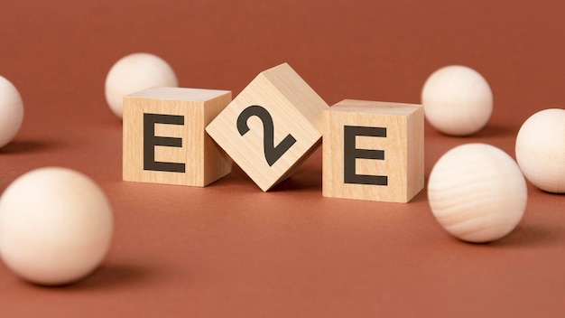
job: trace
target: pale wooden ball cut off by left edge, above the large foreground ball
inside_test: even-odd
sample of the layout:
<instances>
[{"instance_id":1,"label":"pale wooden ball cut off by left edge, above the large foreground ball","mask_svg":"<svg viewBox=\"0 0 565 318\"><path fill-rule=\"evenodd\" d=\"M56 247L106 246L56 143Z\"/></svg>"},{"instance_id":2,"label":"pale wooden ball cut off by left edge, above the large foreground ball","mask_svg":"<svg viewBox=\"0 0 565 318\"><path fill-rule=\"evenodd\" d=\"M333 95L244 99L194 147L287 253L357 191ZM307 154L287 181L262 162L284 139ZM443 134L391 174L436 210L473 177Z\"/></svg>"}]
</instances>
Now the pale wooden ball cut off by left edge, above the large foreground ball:
<instances>
[{"instance_id":1,"label":"pale wooden ball cut off by left edge, above the large foreground ball","mask_svg":"<svg viewBox=\"0 0 565 318\"><path fill-rule=\"evenodd\" d=\"M22 97L8 79L0 76L0 148L14 139L22 122Z\"/></svg>"}]
</instances>

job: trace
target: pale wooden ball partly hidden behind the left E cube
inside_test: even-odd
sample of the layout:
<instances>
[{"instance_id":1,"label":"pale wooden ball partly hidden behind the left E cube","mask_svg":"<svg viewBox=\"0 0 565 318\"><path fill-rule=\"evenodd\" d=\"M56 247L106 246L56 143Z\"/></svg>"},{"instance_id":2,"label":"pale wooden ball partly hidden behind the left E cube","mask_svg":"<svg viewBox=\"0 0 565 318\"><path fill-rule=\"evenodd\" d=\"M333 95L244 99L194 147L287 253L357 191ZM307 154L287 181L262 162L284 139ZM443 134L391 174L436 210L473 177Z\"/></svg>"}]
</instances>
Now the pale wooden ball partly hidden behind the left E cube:
<instances>
[{"instance_id":1,"label":"pale wooden ball partly hidden behind the left E cube","mask_svg":"<svg viewBox=\"0 0 565 318\"><path fill-rule=\"evenodd\" d=\"M117 117L122 117L125 95L153 87L178 87L171 65L151 53L126 55L108 71L106 100Z\"/></svg>"}]
</instances>

